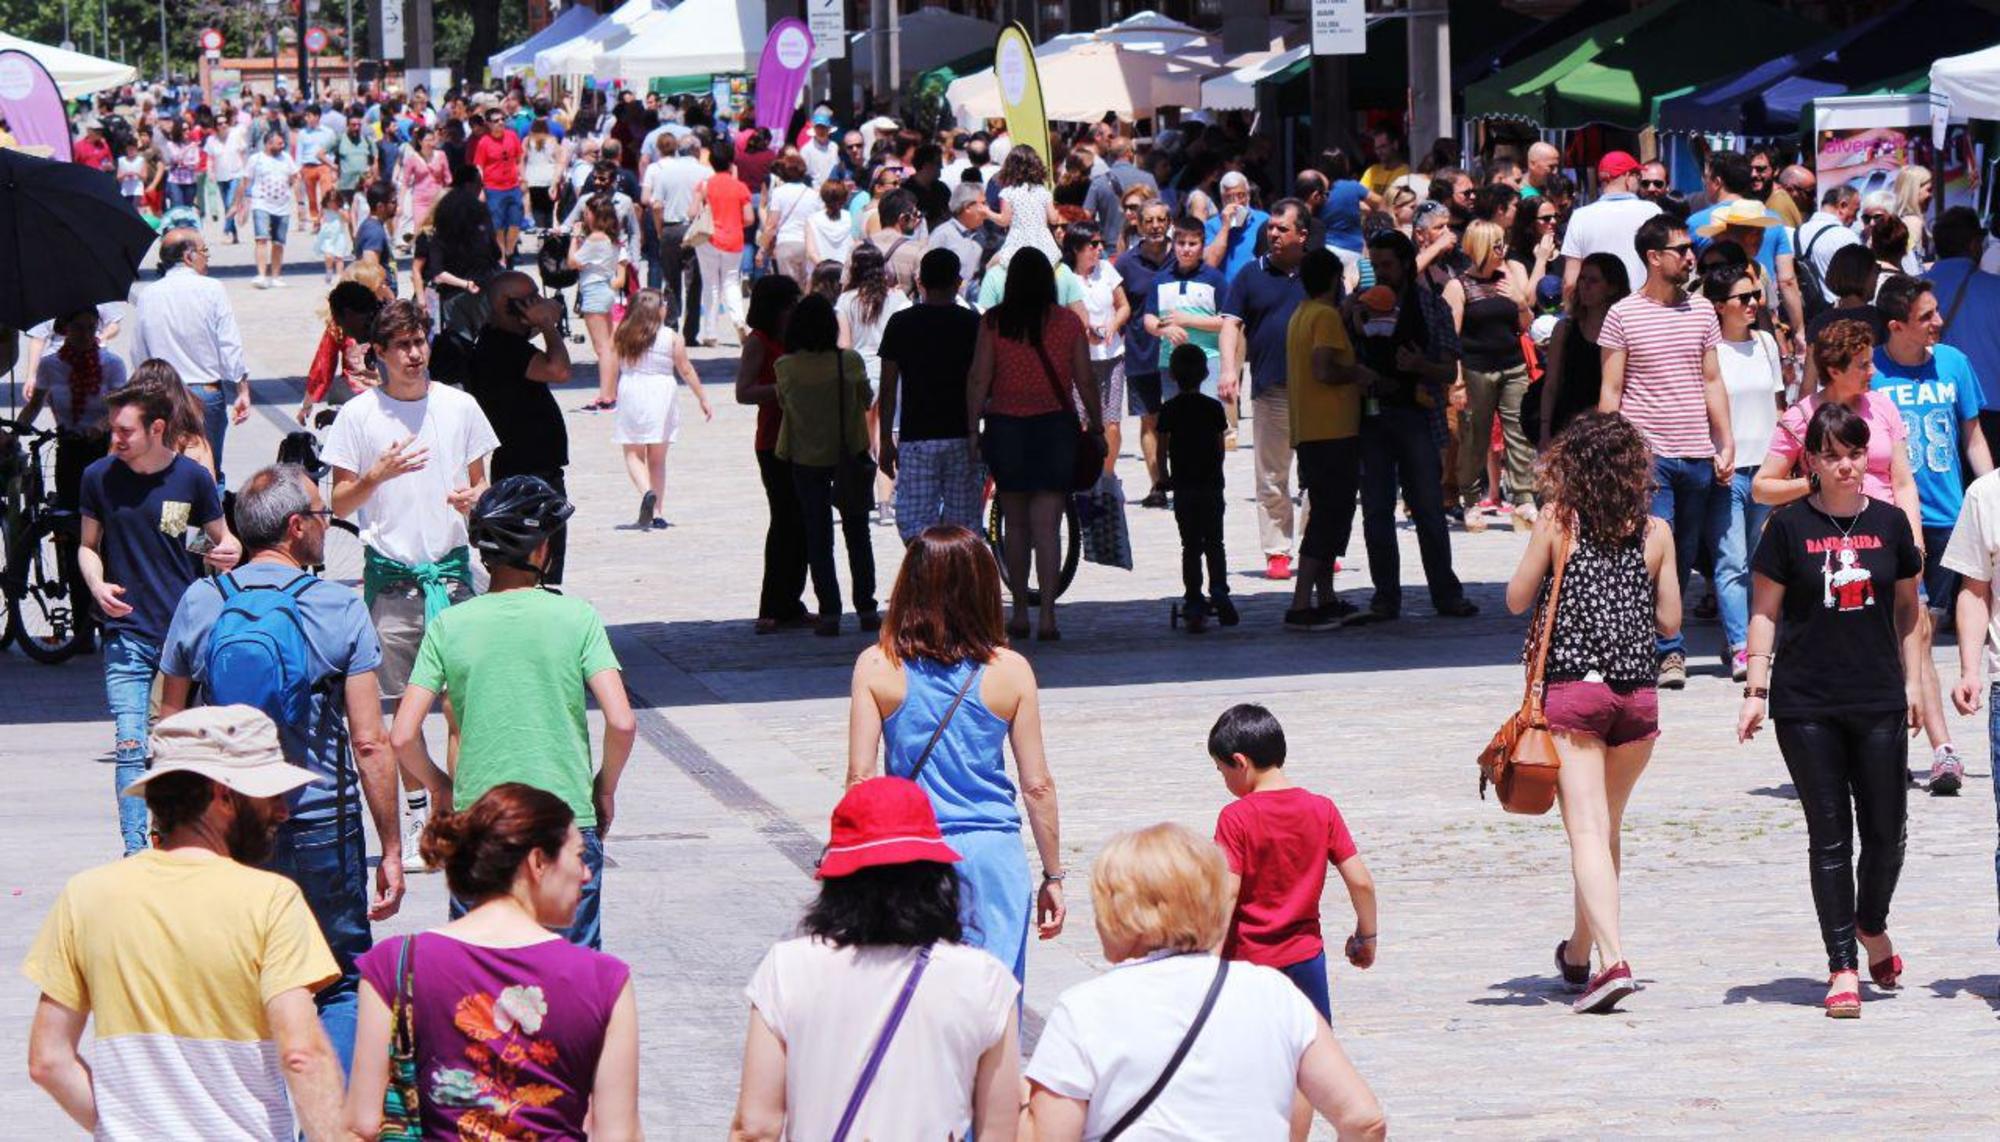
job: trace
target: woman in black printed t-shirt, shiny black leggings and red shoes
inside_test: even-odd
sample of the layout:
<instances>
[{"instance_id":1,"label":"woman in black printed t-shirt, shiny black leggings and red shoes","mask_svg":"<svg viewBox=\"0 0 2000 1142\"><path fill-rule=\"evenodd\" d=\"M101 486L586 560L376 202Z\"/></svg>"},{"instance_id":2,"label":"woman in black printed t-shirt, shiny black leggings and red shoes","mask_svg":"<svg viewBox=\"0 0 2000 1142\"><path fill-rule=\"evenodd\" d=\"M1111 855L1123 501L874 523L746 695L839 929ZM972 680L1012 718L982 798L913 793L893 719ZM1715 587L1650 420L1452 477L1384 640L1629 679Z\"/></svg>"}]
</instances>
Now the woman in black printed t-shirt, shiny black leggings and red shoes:
<instances>
[{"instance_id":1,"label":"woman in black printed t-shirt, shiny black leggings and red shoes","mask_svg":"<svg viewBox=\"0 0 2000 1142\"><path fill-rule=\"evenodd\" d=\"M1924 654L1916 634L1924 556L1908 516L1862 494L1868 422L1852 408L1828 402L1812 414L1806 468L1818 490L1772 512L1752 560L1750 680L1736 738L1756 734L1768 700L1806 810L1812 906L1832 972L1826 1014L1854 1018L1856 938L1878 988L1894 988L1902 974L1888 902L1908 818L1904 730L1918 710L1910 680Z\"/></svg>"}]
</instances>

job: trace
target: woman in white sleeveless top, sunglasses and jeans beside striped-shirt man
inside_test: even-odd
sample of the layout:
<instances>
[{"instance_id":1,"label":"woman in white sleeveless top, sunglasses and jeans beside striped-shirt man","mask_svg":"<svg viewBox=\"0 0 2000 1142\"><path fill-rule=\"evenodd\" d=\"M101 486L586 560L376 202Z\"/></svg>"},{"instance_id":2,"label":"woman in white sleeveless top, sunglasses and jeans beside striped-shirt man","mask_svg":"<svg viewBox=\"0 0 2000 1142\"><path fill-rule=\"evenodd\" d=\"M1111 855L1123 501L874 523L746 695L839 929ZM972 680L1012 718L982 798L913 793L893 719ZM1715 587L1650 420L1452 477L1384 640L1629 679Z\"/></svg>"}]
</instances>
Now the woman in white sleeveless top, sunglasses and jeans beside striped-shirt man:
<instances>
[{"instance_id":1,"label":"woman in white sleeveless top, sunglasses and jeans beside striped-shirt man","mask_svg":"<svg viewBox=\"0 0 2000 1142\"><path fill-rule=\"evenodd\" d=\"M1716 556L1716 606L1722 612L1722 642L1730 674L1742 682L1750 664L1750 552L1764 534L1770 504L1750 496L1750 484L1784 410L1784 366L1778 340L1756 328L1764 308L1764 288L1748 266L1716 266L1702 278L1702 296L1716 306L1722 344L1722 388L1730 396L1730 432L1736 436L1736 478L1708 498L1704 542Z\"/></svg>"}]
</instances>

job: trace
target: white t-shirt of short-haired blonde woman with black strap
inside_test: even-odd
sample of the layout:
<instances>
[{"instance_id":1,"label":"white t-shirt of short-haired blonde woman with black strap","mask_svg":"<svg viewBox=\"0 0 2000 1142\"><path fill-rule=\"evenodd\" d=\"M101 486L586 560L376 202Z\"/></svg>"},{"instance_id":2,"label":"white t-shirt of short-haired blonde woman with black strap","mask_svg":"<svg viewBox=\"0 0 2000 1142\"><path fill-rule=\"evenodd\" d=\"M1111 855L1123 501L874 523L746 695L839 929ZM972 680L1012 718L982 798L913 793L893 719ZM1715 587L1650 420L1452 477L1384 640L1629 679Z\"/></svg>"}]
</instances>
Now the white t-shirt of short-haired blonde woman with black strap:
<instances>
[{"instance_id":1,"label":"white t-shirt of short-haired blonde woman with black strap","mask_svg":"<svg viewBox=\"0 0 2000 1142\"><path fill-rule=\"evenodd\" d=\"M1164 956L1076 984L1056 1000L1028 1078L1064 1098L1088 1100L1084 1138L1102 1138L1166 1070L1214 978L1214 956ZM1272 968L1230 964L1194 1048L1124 1138L1290 1138L1298 1060L1318 1030L1320 1014L1292 980Z\"/></svg>"}]
</instances>

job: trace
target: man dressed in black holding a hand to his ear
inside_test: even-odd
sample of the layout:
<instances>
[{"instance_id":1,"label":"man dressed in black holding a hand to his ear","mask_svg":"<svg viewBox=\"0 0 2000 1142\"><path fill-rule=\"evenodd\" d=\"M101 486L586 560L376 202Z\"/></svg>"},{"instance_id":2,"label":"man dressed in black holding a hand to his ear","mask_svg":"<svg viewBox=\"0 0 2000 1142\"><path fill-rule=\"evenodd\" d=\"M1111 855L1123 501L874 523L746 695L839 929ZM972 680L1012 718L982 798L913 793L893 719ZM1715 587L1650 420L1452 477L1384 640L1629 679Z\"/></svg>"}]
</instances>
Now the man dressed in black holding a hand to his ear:
<instances>
[{"instance_id":1,"label":"man dressed in black holding a hand to his ear","mask_svg":"<svg viewBox=\"0 0 2000 1142\"><path fill-rule=\"evenodd\" d=\"M568 494L562 468L570 462L570 432L550 384L570 380L570 346L558 322L562 304L536 292L528 274L506 272L486 282L494 312L472 348L466 392L494 426L500 448L488 478L540 476L556 492ZM542 348L534 340L542 338ZM564 534L556 532L542 582L562 582Z\"/></svg>"}]
</instances>

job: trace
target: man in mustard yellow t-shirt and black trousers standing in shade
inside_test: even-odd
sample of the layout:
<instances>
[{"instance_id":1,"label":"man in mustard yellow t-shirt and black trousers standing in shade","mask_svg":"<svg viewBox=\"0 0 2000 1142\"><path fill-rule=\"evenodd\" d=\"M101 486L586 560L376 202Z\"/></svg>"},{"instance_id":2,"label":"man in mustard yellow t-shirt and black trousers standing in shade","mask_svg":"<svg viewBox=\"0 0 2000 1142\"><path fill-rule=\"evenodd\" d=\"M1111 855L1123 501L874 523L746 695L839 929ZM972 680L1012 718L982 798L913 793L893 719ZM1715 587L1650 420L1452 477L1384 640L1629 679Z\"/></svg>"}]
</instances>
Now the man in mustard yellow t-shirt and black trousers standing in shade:
<instances>
[{"instance_id":1,"label":"man in mustard yellow t-shirt and black trousers standing in shade","mask_svg":"<svg viewBox=\"0 0 2000 1142\"><path fill-rule=\"evenodd\" d=\"M1340 320L1342 264L1332 250L1312 250L1298 266L1306 300L1284 330L1286 390L1292 398L1292 450L1312 512L1298 542L1298 582L1288 630L1330 630L1358 608L1334 594L1334 560L1348 550L1362 480L1362 386L1374 376L1356 364ZM1318 606L1314 606L1318 590Z\"/></svg>"}]
</instances>

